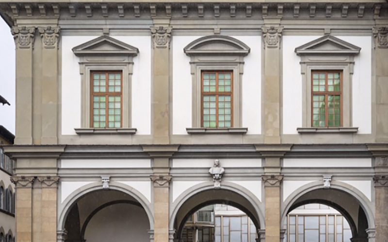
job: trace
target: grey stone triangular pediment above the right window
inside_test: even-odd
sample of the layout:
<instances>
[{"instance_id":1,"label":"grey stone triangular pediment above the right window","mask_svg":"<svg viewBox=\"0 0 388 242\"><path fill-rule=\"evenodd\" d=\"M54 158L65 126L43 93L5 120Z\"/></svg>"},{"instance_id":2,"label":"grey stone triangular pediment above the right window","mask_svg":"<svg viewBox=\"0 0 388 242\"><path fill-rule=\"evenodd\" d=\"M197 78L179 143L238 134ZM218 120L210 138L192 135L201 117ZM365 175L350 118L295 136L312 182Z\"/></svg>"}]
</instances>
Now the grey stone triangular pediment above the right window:
<instances>
[{"instance_id":1,"label":"grey stone triangular pediment above the right window","mask_svg":"<svg viewBox=\"0 0 388 242\"><path fill-rule=\"evenodd\" d=\"M308 42L295 48L297 55L303 54L352 54L360 53L361 48L332 35L324 35L321 38Z\"/></svg>"}]
</instances>

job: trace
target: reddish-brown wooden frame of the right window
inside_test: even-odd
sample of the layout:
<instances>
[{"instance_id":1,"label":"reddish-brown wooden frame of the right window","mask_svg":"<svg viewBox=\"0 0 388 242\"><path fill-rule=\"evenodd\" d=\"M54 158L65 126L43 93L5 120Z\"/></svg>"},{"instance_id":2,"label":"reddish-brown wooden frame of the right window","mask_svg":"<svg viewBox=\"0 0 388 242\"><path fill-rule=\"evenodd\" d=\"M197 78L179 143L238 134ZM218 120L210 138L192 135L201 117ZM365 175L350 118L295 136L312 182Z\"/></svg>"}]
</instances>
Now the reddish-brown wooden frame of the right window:
<instances>
[{"instance_id":1,"label":"reddish-brown wooden frame of the right window","mask_svg":"<svg viewBox=\"0 0 388 242\"><path fill-rule=\"evenodd\" d=\"M327 76L328 74L336 74L336 73L339 73L339 89L340 91L328 91L328 80L327 80ZM313 84L313 81L314 81L314 74L325 74L325 91L313 91L314 89L314 84ZM314 127L314 128L337 128L337 127L342 127L343 126L343 71L342 70L311 70L311 97L310 97L310 108L311 108L311 113L310 113L310 120L311 120L311 127ZM313 113L313 103L314 103L314 100L313 100L313 96L314 95L324 95L325 96L325 125L323 127L315 127L314 126L314 120L313 120L313 116L314 116L314 113ZM329 126L329 115L328 115L328 105L327 105L327 102L328 102L328 96L329 95L336 95L336 96L339 96L339 117L340 117L340 124L339 126Z\"/></svg>"}]
</instances>

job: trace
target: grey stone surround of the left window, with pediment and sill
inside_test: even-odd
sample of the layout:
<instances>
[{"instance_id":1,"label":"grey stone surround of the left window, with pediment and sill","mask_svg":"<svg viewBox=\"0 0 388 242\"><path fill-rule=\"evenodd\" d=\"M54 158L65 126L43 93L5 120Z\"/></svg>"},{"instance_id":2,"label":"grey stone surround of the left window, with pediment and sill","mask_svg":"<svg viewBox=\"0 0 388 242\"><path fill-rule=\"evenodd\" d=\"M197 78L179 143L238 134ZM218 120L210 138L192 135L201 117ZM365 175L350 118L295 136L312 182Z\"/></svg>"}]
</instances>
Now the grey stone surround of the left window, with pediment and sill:
<instances>
[{"instance_id":1,"label":"grey stone surround of the left window, with pediment and sill","mask_svg":"<svg viewBox=\"0 0 388 242\"><path fill-rule=\"evenodd\" d=\"M114 50L112 52L105 50L87 50L82 52L79 47L82 45L93 46L100 44L96 40L108 40L108 43L123 45L124 50ZM80 74L81 74L81 128L74 130L78 135L90 134L135 134L136 128L131 128L131 77L133 72L133 57L139 52L137 48L115 40L109 36L100 36L97 39L86 42L73 48L75 55L79 56ZM89 47L90 47L89 46ZM121 47L121 46L120 46ZM90 127L90 108L91 108L91 72L93 71L120 71L122 73L122 127L121 128L93 128Z\"/></svg>"}]
</instances>

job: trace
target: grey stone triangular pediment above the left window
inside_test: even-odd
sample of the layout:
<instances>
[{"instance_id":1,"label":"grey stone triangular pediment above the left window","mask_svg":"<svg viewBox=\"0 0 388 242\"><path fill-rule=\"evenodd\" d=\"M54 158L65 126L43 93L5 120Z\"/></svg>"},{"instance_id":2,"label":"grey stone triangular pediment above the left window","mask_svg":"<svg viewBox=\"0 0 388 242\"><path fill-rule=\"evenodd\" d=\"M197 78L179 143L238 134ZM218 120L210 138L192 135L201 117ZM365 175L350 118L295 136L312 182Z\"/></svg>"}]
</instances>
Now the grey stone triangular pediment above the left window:
<instances>
[{"instance_id":1,"label":"grey stone triangular pediment above the left window","mask_svg":"<svg viewBox=\"0 0 388 242\"><path fill-rule=\"evenodd\" d=\"M139 50L136 47L107 35L100 36L96 39L78 45L72 50L76 56L107 54L137 56L139 53Z\"/></svg>"}]
</instances>

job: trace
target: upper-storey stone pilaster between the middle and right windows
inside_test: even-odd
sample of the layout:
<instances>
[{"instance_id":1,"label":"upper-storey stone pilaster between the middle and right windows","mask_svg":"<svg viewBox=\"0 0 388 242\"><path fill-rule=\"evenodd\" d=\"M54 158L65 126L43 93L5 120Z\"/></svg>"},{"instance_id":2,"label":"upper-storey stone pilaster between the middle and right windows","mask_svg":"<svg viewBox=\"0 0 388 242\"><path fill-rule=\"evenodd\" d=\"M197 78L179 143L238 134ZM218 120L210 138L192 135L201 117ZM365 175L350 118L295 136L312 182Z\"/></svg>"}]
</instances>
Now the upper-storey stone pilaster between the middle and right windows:
<instances>
[{"instance_id":1,"label":"upper-storey stone pilaster between the middle and right windows","mask_svg":"<svg viewBox=\"0 0 388 242\"><path fill-rule=\"evenodd\" d=\"M280 143L280 18L264 19L264 143Z\"/></svg>"}]
</instances>

